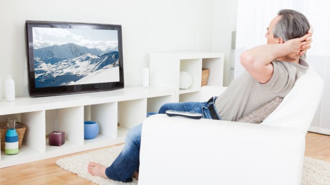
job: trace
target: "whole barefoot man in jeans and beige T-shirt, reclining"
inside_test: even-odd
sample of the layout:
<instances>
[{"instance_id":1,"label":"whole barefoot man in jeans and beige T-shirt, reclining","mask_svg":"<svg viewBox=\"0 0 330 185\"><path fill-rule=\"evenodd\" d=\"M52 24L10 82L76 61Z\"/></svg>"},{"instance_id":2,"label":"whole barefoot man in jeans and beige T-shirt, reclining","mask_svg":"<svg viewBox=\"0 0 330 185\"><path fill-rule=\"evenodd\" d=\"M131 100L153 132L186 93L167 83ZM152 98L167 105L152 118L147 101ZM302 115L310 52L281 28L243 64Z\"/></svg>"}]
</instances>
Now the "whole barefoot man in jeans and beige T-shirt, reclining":
<instances>
[{"instance_id":1,"label":"whole barefoot man in jeans and beige T-shirt, reclining","mask_svg":"<svg viewBox=\"0 0 330 185\"><path fill-rule=\"evenodd\" d=\"M293 10L281 10L267 28L267 45L242 53L246 68L219 97L206 102L166 103L159 113L179 110L202 113L203 118L235 121L275 97L285 97L294 82L306 72L308 64L299 55L310 48L311 33L307 18ZM91 162L92 175L130 182L138 179L142 124L132 128L125 147L108 168Z\"/></svg>"}]
</instances>

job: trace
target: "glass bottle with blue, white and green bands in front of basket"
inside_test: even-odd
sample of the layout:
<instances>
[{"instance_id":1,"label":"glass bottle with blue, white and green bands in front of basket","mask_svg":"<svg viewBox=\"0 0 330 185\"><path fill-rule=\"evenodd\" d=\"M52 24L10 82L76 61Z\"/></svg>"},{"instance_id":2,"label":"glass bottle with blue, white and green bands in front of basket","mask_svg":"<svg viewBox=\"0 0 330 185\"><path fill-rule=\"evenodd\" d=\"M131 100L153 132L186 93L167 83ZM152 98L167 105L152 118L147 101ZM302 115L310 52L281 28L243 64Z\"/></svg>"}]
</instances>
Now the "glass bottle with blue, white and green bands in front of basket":
<instances>
[{"instance_id":1,"label":"glass bottle with blue, white and green bands in front of basket","mask_svg":"<svg viewBox=\"0 0 330 185\"><path fill-rule=\"evenodd\" d=\"M8 129L5 136L4 153L13 155L18 153L18 135L15 129L16 118L7 118Z\"/></svg>"}]
</instances>

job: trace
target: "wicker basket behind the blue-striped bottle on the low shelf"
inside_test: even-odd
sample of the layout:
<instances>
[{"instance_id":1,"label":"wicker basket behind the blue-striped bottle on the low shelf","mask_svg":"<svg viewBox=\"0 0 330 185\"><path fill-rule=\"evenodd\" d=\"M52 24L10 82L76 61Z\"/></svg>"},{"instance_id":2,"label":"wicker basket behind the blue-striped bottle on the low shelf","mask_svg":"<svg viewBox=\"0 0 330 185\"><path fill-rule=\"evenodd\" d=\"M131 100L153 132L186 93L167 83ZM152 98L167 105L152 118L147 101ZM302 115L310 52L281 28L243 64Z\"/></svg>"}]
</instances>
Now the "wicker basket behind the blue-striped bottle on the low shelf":
<instances>
[{"instance_id":1,"label":"wicker basket behind the blue-striped bottle on the low shelf","mask_svg":"<svg viewBox=\"0 0 330 185\"><path fill-rule=\"evenodd\" d=\"M20 122L16 122L15 129L18 135L18 149L20 149L20 147L22 146L26 125ZM4 151L4 137L6 136L6 132L7 132L7 122L0 122L1 151Z\"/></svg>"}]
</instances>

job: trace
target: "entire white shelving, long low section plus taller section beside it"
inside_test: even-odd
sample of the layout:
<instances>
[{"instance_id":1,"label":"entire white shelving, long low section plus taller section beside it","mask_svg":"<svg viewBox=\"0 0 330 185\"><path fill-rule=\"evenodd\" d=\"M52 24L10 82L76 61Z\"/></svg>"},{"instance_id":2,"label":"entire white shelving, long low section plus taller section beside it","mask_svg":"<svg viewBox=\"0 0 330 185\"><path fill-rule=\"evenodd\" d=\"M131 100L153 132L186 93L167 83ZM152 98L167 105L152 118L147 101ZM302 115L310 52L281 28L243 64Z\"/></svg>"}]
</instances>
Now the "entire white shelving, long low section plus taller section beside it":
<instances>
[{"instance_id":1,"label":"entire white shelving, long low section plus taller section beside it","mask_svg":"<svg viewBox=\"0 0 330 185\"><path fill-rule=\"evenodd\" d=\"M196 101L202 67L210 68L207 85L222 86L223 53L176 52L150 54L150 86L53 97L0 101L0 121L15 116L27 129L16 155L1 151L0 168L125 141L129 128L140 124L147 112L158 112L167 102ZM193 77L188 89L179 89L180 71ZM99 135L84 140L84 120L99 123ZM49 146L46 134L65 131L65 144Z\"/></svg>"}]
</instances>

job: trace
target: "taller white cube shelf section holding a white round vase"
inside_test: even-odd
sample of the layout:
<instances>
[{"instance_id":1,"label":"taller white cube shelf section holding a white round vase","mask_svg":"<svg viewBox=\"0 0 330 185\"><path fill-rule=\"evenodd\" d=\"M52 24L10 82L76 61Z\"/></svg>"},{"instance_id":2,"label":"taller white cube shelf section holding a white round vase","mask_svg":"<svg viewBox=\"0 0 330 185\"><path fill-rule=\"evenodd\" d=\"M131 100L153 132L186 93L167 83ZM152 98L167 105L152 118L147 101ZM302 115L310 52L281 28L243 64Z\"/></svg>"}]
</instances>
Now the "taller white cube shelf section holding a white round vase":
<instances>
[{"instance_id":1,"label":"taller white cube shelf section holding a white round vase","mask_svg":"<svg viewBox=\"0 0 330 185\"><path fill-rule=\"evenodd\" d=\"M222 86L223 58L221 52L157 52L150 53L150 85L168 87L176 92L176 101L194 101L201 90L202 68L209 68L207 85ZM179 89L180 71L188 72L193 83Z\"/></svg>"}]
</instances>

